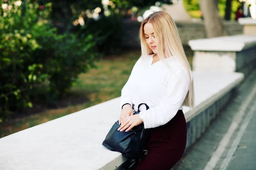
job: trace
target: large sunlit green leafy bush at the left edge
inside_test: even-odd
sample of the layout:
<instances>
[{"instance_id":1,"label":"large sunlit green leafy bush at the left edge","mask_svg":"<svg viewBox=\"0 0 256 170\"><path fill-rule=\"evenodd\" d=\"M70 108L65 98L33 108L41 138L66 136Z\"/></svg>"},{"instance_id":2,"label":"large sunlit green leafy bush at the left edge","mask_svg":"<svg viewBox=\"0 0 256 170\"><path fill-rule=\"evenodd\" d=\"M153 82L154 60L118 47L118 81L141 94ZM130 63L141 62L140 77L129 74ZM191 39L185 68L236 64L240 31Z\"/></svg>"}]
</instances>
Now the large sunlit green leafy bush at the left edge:
<instances>
[{"instance_id":1,"label":"large sunlit green leafy bush at the left edge","mask_svg":"<svg viewBox=\"0 0 256 170\"><path fill-rule=\"evenodd\" d=\"M13 111L32 107L38 88L48 103L69 91L81 72L93 67L95 42L90 34L57 34L44 9L29 0L8 0L0 8L0 122ZM21 3L19 6L18 2ZM42 88L46 87L46 88Z\"/></svg>"}]
</instances>

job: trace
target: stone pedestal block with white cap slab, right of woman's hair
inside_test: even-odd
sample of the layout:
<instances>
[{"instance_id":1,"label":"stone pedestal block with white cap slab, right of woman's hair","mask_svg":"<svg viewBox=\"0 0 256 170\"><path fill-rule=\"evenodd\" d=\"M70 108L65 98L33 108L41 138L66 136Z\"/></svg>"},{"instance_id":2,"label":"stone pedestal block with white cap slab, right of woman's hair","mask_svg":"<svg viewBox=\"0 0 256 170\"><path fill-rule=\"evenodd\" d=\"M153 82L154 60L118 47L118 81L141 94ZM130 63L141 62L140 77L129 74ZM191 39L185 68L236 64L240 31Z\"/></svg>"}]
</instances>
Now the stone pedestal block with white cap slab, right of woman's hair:
<instances>
[{"instance_id":1,"label":"stone pedestal block with white cap slab, right of woman's hair","mask_svg":"<svg viewBox=\"0 0 256 170\"><path fill-rule=\"evenodd\" d=\"M190 40L194 71L242 72L256 68L256 35Z\"/></svg>"}]
</instances>

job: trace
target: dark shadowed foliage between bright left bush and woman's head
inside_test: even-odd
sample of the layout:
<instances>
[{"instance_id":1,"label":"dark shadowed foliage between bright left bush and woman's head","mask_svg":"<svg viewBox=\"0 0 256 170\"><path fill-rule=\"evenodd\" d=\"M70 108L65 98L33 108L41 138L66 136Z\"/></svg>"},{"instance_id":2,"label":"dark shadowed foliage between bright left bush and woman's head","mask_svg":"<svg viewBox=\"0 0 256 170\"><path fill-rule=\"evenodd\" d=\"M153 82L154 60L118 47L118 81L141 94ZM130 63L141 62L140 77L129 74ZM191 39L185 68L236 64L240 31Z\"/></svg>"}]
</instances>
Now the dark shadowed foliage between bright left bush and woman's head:
<instances>
[{"instance_id":1,"label":"dark shadowed foliage between bright left bush and woman's head","mask_svg":"<svg viewBox=\"0 0 256 170\"><path fill-rule=\"evenodd\" d=\"M84 39L88 34L91 34L93 40L96 42L96 50L102 54L115 54L120 47L120 41L122 38L121 18L119 11L115 11L116 8L107 6L110 11L109 16L104 15L104 6L102 0L39 0L41 4L52 2L51 20L58 27L58 32L73 32L78 35L80 39ZM89 13L93 13L95 8L101 8L99 13L99 19L94 20L87 16ZM82 17L85 25L75 25L79 17ZM61 23L58 26L57 23Z\"/></svg>"}]
</instances>

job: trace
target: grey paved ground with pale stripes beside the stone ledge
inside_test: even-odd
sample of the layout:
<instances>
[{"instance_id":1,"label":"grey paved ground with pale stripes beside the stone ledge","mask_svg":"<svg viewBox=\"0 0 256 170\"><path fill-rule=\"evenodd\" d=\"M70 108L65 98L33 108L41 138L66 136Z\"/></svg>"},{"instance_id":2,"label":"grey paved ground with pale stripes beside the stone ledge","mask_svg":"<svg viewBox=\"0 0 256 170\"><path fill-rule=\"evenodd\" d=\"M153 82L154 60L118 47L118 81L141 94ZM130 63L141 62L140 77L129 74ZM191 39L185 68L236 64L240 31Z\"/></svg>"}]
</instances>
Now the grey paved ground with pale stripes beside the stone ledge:
<instances>
[{"instance_id":1,"label":"grey paved ground with pale stripes beside the stone ledge","mask_svg":"<svg viewBox=\"0 0 256 170\"><path fill-rule=\"evenodd\" d=\"M256 71L172 170L256 170Z\"/></svg>"}]
</instances>

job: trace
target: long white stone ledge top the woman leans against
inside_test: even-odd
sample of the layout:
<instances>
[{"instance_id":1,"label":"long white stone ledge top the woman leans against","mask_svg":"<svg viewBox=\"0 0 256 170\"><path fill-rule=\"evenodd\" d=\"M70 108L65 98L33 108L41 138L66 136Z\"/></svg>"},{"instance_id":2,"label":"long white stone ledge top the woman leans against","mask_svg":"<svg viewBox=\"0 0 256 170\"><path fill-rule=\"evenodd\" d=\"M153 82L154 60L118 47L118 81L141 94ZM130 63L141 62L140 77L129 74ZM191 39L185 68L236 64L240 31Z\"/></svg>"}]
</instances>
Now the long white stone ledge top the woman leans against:
<instances>
[{"instance_id":1,"label":"long white stone ledge top the woman leans against","mask_svg":"<svg viewBox=\"0 0 256 170\"><path fill-rule=\"evenodd\" d=\"M243 79L241 73L193 72L195 108L189 121ZM113 170L126 159L102 146L119 117L119 98L0 139L0 168L9 170Z\"/></svg>"}]
</instances>

